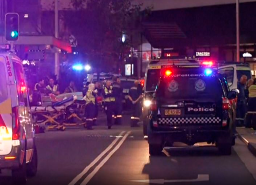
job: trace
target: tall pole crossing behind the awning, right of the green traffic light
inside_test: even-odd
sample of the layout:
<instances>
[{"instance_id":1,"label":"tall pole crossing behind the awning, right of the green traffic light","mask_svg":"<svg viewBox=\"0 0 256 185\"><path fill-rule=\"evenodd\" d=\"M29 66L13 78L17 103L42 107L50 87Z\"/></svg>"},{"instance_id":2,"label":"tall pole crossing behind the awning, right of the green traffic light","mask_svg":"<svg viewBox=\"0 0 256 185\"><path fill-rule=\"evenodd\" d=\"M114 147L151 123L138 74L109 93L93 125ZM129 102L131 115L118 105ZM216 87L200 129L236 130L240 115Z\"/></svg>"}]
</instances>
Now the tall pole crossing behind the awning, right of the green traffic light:
<instances>
[{"instance_id":1,"label":"tall pole crossing behind the awning, right of the green traffic light","mask_svg":"<svg viewBox=\"0 0 256 185\"><path fill-rule=\"evenodd\" d=\"M55 0L55 38L59 38L59 9L58 0ZM54 74L59 79L59 51L55 52L55 68Z\"/></svg>"}]
</instances>

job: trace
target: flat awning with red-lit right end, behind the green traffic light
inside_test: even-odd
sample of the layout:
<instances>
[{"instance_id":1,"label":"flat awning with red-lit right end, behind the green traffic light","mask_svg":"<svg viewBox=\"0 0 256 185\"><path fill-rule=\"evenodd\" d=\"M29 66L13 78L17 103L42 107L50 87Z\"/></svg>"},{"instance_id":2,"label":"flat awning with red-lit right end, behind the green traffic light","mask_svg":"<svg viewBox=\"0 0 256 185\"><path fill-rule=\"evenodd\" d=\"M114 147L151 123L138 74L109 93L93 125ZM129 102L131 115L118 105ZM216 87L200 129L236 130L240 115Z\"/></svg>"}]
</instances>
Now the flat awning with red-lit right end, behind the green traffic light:
<instances>
[{"instance_id":1,"label":"flat awning with red-lit right end, behind the green traffic light","mask_svg":"<svg viewBox=\"0 0 256 185\"><path fill-rule=\"evenodd\" d=\"M0 37L0 39L6 42L4 37ZM15 41L14 45L52 45L68 53L72 52L69 43L52 36L19 36L19 40Z\"/></svg>"}]
</instances>

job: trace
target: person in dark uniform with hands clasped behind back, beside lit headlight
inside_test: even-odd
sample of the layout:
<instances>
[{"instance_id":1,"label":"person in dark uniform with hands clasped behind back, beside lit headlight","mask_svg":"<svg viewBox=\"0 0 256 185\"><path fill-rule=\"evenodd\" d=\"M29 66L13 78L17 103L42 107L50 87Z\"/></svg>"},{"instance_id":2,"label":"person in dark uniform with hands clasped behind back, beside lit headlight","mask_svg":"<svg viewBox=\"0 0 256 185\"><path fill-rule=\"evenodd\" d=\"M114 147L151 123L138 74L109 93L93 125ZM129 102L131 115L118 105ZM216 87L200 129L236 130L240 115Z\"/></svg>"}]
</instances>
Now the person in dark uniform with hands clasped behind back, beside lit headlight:
<instances>
[{"instance_id":1,"label":"person in dark uniform with hands clasped behind back, beside lit headlight","mask_svg":"<svg viewBox=\"0 0 256 185\"><path fill-rule=\"evenodd\" d=\"M138 126L141 112L141 91L139 88L139 80L136 80L135 85L129 90L129 100L132 102L133 113L131 116L131 127Z\"/></svg>"}]
</instances>

